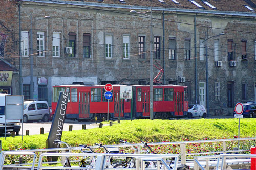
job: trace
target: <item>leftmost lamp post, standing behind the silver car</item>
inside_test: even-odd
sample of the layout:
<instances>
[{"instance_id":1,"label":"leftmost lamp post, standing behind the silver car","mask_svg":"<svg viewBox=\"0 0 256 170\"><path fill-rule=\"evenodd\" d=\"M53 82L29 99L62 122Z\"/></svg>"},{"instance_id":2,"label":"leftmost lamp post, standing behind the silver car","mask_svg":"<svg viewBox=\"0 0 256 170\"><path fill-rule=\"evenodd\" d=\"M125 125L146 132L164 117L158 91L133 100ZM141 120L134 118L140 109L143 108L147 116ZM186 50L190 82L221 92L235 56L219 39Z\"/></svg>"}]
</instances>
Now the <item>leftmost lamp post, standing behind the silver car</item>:
<instances>
[{"instance_id":1,"label":"leftmost lamp post, standing behind the silver car","mask_svg":"<svg viewBox=\"0 0 256 170\"><path fill-rule=\"evenodd\" d=\"M30 99L34 99L34 81L33 81L33 23L42 20L42 19L50 19L50 16L45 16L44 18L37 19L32 22L32 14L30 14ZM20 87L22 88L22 87Z\"/></svg>"}]
</instances>

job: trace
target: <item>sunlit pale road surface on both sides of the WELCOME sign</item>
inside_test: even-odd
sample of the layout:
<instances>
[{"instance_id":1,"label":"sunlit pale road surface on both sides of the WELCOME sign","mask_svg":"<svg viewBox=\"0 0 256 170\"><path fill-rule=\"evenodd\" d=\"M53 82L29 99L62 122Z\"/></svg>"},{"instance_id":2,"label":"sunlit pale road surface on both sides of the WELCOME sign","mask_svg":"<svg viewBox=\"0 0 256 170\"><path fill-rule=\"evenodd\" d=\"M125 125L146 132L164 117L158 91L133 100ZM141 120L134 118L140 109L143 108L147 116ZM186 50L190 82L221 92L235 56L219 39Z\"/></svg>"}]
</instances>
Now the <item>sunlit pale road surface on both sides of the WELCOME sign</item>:
<instances>
[{"instance_id":1,"label":"sunlit pale road surface on both sides of the WELCOME sign","mask_svg":"<svg viewBox=\"0 0 256 170\"><path fill-rule=\"evenodd\" d=\"M73 126L73 130L81 130L82 125L86 124L86 129L91 129L91 128L97 128L99 127L99 123L95 124L92 122L75 122L71 120L65 120L65 124L63 127L63 131L69 131L69 126ZM51 128L52 122L47 122L47 123L38 123L38 122L30 122L30 123L24 123L23 124L23 135L26 134L26 130L29 130L29 135L36 135L40 134L40 129L44 128L44 133L49 133L50 128ZM20 130L19 135L22 135L22 130Z\"/></svg>"}]
</instances>

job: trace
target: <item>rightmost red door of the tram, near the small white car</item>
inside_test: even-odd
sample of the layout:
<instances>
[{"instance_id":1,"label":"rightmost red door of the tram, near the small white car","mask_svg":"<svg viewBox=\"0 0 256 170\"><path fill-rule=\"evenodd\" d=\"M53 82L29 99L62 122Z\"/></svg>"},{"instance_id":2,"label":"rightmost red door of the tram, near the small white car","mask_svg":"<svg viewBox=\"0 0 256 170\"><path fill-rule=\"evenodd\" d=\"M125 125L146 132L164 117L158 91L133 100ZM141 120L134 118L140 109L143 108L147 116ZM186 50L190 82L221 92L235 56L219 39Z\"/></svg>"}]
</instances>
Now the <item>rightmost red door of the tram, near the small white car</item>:
<instances>
[{"instance_id":1,"label":"rightmost red door of the tram, near the small white car","mask_svg":"<svg viewBox=\"0 0 256 170\"><path fill-rule=\"evenodd\" d=\"M175 91L174 92L174 115L175 116L183 116L183 91Z\"/></svg>"}]
</instances>

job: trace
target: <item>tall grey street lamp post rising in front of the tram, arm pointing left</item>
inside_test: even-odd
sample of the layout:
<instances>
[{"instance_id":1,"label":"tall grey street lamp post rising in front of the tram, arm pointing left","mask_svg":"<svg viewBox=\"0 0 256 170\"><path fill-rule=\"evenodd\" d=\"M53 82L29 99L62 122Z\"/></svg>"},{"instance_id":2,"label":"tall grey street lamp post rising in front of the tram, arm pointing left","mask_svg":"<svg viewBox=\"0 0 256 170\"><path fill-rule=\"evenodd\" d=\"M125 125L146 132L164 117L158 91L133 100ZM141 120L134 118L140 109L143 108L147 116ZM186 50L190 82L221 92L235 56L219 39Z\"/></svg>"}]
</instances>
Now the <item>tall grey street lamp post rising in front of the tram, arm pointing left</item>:
<instances>
[{"instance_id":1,"label":"tall grey street lamp post rising in front of the tram, arm pointing left","mask_svg":"<svg viewBox=\"0 0 256 170\"><path fill-rule=\"evenodd\" d=\"M139 14L144 14L150 17L150 119L153 120L153 53L152 53L152 43L153 43L153 33L152 33L152 7L150 7L150 15L146 14L146 12L137 12L135 10L131 10L130 12L135 12Z\"/></svg>"}]
</instances>

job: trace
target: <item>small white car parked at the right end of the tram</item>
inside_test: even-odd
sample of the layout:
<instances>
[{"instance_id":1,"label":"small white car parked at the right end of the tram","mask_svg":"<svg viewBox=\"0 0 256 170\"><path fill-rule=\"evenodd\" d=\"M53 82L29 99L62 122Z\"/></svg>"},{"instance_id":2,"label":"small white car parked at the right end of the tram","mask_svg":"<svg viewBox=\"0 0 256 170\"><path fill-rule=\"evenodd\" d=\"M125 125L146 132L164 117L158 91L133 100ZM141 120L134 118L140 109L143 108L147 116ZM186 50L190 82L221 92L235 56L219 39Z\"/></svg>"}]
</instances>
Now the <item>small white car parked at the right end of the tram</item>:
<instances>
[{"instance_id":1,"label":"small white car parked at the right end of the tram","mask_svg":"<svg viewBox=\"0 0 256 170\"><path fill-rule=\"evenodd\" d=\"M206 118L206 109L203 105L188 105L187 117L203 117Z\"/></svg>"}]
</instances>

